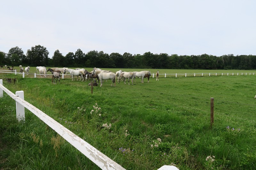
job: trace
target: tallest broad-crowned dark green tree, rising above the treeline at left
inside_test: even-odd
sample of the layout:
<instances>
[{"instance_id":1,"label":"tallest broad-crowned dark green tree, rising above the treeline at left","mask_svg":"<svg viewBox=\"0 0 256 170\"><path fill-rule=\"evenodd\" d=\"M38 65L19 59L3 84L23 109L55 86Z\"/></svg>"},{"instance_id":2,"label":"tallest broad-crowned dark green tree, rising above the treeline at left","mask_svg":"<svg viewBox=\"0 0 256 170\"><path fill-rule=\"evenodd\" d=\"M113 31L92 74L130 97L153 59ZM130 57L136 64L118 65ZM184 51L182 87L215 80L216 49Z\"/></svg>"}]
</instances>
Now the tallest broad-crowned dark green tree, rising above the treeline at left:
<instances>
[{"instance_id":1,"label":"tallest broad-crowned dark green tree, rising above the treeline at left","mask_svg":"<svg viewBox=\"0 0 256 170\"><path fill-rule=\"evenodd\" d=\"M49 51L41 45L31 47L31 50L27 50L27 64L33 66L44 66L48 64Z\"/></svg>"}]
</instances>

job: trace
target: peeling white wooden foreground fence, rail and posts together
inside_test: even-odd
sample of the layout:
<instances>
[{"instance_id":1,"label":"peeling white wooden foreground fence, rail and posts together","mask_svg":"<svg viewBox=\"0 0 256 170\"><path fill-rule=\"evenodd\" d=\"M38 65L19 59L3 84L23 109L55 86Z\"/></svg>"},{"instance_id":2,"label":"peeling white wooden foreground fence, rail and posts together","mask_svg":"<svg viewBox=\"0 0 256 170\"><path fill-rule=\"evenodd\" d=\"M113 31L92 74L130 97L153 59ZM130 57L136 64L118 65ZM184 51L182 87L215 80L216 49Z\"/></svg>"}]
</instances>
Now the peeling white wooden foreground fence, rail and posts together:
<instances>
[{"instance_id":1,"label":"peeling white wooden foreground fence, rail and posts together","mask_svg":"<svg viewBox=\"0 0 256 170\"><path fill-rule=\"evenodd\" d=\"M24 92L17 91L13 94L7 88L3 86L3 80L0 79L0 97L3 97L3 91L6 92L13 100L16 101L16 117L20 122L25 121L25 107L35 114L39 119L45 122L49 127L55 130L60 136L66 139L76 149L82 152L87 158L94 162L101 169L106 170L125 170L122 166L117 164L112 159L101 153L89 143L78 137L76 134L62 126L59 122L46 115L44 112L31 105L24 100ZM175 166L162 166L158 170L177 170Z\"/></svg>"}]
</instances>

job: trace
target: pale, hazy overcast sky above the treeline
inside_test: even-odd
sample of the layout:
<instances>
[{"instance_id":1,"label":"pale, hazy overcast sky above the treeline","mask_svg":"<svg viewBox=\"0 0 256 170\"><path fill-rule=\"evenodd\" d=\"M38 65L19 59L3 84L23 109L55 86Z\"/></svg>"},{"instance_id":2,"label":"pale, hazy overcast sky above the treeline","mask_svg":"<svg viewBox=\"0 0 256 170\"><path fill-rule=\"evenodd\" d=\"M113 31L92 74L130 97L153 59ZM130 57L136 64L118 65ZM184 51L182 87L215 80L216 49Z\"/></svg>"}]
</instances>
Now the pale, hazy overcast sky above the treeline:
<instances>
[{"instance_id":1,"label":"pale, hazy overcast sky above the treeline","mask_svg":"<svg viewBox=\"0 0 256 170\"><path fill-rule=\"evenodd\" d=\"M4 0L0 51L256 55L255 0Z\"/></svg>"}]
</instances>

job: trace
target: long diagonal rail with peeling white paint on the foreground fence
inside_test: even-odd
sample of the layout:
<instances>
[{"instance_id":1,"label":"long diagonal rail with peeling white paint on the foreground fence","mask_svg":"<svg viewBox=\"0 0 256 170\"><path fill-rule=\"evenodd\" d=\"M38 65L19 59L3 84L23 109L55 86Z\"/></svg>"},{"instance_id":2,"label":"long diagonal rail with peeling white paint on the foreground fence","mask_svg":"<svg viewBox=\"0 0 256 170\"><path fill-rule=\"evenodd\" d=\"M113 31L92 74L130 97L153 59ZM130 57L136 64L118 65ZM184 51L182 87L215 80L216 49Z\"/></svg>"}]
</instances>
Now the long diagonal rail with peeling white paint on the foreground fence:
<instances>
[{"instance_id":1,"label":"long diagonal rail with peeling white paint on the foreground fence","mask_svg":"<svg viewBox=\"0 0 256 170\"><path fill-rule=\"evenodd\" d=\"M80 137L76 136L73 132L62 126L60 123L56 122L50 116L46 115L44 112L31 105L27 101L21 99L17 95L13 94L2 84L0 88L4 90L12 99L18 102L20 105L26 107L29 111L35 114L38 118L44 121L48 126L55 130L60 136L66 139L70 144L72 144L76 149L82 152L87 158L94 162L97 166L104 170L125 170L122 166L118 165L115 161L108 158L106 155L98 151L92 145L85 142ZM18 94L20 94L18 92Z\"/></svg>"}]
</instances>

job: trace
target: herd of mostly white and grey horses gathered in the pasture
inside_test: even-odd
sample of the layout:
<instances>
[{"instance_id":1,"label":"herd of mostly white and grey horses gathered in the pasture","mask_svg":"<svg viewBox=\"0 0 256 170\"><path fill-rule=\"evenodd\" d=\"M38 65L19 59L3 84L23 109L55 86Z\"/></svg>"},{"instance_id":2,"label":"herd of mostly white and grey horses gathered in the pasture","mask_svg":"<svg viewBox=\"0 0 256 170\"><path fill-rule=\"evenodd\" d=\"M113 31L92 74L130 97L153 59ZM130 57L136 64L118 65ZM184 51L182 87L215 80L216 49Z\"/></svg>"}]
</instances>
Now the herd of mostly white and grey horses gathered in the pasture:
<instances>
[{"instance_id":1,"label":"herd of mostly white and grey horses gathered in the pasture","mask_svg":"<svg viewBox=\"0 0 256 170\"><path fill-rule=\"evenodd\" d=\"M1 66L2 67L2 66ZM8 69L12 69L13 70L13 66L12 68L10 67L7 67L5 65L5 68L8 68ZM29 72L29 69L30 67L26 67L25 68L25 72L28 74ZM101 70L99 68L96 68L94 67L93 70L91 72L88 72L87 70L85 69L68 69L68 68L58 68L58 67L54 67L54 68L48 68L46 69L44 66L38 66L36 67L36 70L40 72L41 74L41 77L45 77L46 78L46 72L47 71L51 71L52 72L52 80L54 80L53 82L55 83L55 79L56 79L56 83L57 81L59 80L60 82L60 73L66 73L66 72L69 72L70 75L71 75L71 78L72 78L72 81L74 80L75 76L77 76L76 80L78 81L78 77L80 76L80 80L82 79L82 81L86 81L86 79L93 79L94 80L94 83L93 85L98 85L96 83L96 79L99 83L99 80L100 80L100 86L102 86L102 83L104 80L111 80L112 81L112 84L111 86L116 86L116 80L118 83L120 83L120 81L124 80L124 84L126 84L126 79L128 78L128 84L130 85L130 79L132 79L132 85L133 85L133 80L134 78L136 77L139 77L141 78L141 83L144 83L144 78L148 78L148 82L149 82L149 77L151 76L151 73L150 71L130 71L130 72L125 72L125 71L122 71L122 70L119 70L119 71L116 71L116 73L113 73L111 72L110 70ZM22 73L24 71L22 65L20 65L20 72ZM159 80L159 73L157 71L156 73L156 80ZM91 84L90 84L91 85Z\"/></svg>"}]
</instances>

